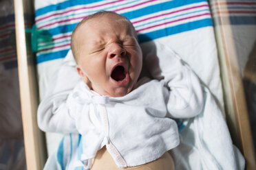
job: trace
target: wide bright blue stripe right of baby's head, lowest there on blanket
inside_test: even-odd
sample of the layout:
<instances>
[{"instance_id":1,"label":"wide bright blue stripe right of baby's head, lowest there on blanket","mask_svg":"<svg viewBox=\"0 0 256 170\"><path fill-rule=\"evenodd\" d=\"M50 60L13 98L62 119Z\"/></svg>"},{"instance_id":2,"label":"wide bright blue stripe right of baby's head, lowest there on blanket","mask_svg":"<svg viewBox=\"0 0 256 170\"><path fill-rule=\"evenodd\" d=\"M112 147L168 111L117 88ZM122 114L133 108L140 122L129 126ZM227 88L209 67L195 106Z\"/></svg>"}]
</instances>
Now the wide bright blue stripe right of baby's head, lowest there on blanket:
<instances>
[{"instance_id":1,"label":"wide bright blue stripe right of baby's head, lowest there on blanket","mask_svg":"<svg viewBox=\"0 0 256 170\"><path fill-rule=\"evenodd\" d=\"M178 34L181 32L191 31L193 29L198 29L200 27L208 27L212 26L211 19L202 19L200 21L193 21L191 23L184 23L181 25L176 25L174 27L167 27L165 29L156 30L154 32L149 32L146 34L139 34L138 39L139 42L147 42L150 40L154 40L156 38L162 38L164 36L169 36L173 34Z\"/></svg>"}]
</instances>

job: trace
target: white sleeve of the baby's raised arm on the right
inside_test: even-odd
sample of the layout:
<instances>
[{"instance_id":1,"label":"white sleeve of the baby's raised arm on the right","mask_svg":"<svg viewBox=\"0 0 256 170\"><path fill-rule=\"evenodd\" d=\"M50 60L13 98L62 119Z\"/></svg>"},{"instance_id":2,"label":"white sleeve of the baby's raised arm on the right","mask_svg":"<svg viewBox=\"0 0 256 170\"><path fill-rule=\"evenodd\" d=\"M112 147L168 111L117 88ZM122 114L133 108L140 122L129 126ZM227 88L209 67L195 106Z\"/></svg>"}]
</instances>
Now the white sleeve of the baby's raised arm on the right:
<instances>
[{"instance_id":1,"label":"white sleeve of the baby's raised arm on the right","mask_svg":"<svg viewBox=\"0 0 256 170\"><path fill-rule=\"evenodd\" d=\"M198 115L203 107L202 86L198 77L171 49L157 44L157 57L146 58L153 78L164 81L164 98L167 117L190 118ZM155 55L156 56L156 55Z\"/></svg>"}]
</instances>

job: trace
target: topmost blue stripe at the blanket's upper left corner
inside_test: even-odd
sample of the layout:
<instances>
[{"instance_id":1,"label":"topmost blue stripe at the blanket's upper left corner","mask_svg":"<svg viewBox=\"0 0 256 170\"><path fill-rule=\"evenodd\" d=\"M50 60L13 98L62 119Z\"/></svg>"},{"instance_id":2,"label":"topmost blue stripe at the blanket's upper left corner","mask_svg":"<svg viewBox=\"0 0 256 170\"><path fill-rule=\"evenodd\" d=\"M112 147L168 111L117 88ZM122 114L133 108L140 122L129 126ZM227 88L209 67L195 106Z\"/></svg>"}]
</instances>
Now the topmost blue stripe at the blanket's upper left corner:
<instances>
[{"instance_id":1,"label":"topmost blue stripe at the blanket's upper left corner","mask_svg":"<svg viewBox=\"0 0 256 170\"><path fill-rule=\"evenodd\" d=\"M64 10L65 8L70 8L72 6L76 6L76 5L86 5L89 3L96 3L98 1L102 1L102 0L86 0L86 1L81 1L81 0L70 0L70 1L63 1L61 3L57 3L55 5L49 5L49 6L45 6L43 8L39 8L38 10L36 10L36 17L39 15L43 15L46 14L48 12L52 12L52 11L56 11L56 10Z\"/></svg>"}]
</instances>

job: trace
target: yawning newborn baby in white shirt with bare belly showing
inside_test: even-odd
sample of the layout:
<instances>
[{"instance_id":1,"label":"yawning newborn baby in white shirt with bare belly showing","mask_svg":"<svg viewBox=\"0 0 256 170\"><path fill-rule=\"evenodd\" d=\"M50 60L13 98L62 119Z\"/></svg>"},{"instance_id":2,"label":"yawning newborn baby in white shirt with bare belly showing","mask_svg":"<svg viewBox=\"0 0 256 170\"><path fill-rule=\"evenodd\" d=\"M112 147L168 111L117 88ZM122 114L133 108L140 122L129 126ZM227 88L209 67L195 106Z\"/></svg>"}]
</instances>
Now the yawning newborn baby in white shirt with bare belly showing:
<instances>
[{"instance_id":1,"label":"yawning newborn baby in white shirt with bare belly showing","mask_svg":"<svg viewBox=\"0 0 256 170\"><path fill-rule=\"evenodd\" d=\"M142 50L136 31L114 12L83 19L71 46L83 82L58 108L52 98L43 99L38 110L41 130L81 134L81 160L88 169L174 169L167 151L180 141L171 118L194 117L203 105L193 71L168 51L158 67L149 68L158 80L138 81Z\"/></svg>"}]
</instances>

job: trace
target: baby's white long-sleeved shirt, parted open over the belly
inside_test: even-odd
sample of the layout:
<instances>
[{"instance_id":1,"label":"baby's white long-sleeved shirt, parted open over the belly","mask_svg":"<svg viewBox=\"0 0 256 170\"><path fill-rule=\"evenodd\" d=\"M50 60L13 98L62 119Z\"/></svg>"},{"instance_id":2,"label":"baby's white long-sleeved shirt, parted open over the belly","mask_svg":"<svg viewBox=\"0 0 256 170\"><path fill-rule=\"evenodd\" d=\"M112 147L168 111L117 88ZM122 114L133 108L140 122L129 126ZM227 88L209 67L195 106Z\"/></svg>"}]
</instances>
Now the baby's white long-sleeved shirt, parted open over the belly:
<instances>
[{"instance_id":1,"label":"baby's white long-sleeved shirt, parted open over the belly","mask_svg":"<svg viewBox=\"0 0 256 170\"><path fill-rule=\"evenodd\" d=\"M81 134L82 160L94 158L105 145L119 168L160 158L179 144L171 118L195 117L203 106L202 88L193 71L172 51L162 59L159 69L151 71L159 80L144 77L123 97L100 96L83 82L65 99L61 92L47 96L39 106L39 127L45 132Z\"/></svg>"}]
</instances>

